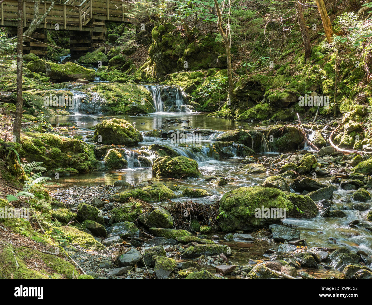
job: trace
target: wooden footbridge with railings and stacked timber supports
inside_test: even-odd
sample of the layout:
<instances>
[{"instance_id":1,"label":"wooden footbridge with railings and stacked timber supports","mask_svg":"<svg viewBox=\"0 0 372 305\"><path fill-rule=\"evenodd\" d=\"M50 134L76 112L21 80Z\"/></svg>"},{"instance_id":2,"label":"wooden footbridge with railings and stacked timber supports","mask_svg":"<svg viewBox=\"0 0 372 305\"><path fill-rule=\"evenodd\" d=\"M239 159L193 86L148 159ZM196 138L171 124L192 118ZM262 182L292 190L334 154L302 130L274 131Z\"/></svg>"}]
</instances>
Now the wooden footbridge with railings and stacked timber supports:
<instances>
[{"instance_id":1,"label":"wooden footbridge with railings and stacked timber supports","mask_svg":"<svg viewBox=\"0 0 372 305\"><path fill-rule=\"evenodd\" d=\"M47 57L47 30L70 31L71 58L78 58L102 44L106 35L105 21L131 23L129 1L121 0L62 0L55 3L45 20L26 40L25 53ZM23 1L23 26L28 28L34 16L34 1ZM39 18L48 11L51 1L41 1ZM0 4L0 27L17 28L17 0ZM37 41L36 41L36 40Z\"/></svg>"}]
</instances>

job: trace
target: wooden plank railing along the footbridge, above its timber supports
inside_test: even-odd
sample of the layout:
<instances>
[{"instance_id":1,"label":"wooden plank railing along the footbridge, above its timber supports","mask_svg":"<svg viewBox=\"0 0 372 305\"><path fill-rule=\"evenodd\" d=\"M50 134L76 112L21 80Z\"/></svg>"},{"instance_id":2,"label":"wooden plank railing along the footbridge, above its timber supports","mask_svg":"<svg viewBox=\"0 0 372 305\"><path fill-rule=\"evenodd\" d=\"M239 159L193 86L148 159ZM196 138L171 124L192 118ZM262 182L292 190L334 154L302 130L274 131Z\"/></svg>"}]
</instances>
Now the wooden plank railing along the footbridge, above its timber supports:
<instances>
[{"instance_id":1,"label":"wooden plank railing along the footbridge, above its timber supports","mask_svg":"<svg viewBox=\"0 0 372 305\"><path fill-rule=\"evenodd\" d=\"M89 21L110 20L116 22L128 21L126 13L129 6L120 0L83 0L79 4L55 4L44 20L44 28L54 28L58 23L60 28L71 29L69 26L79 27L80 31ZM33 19L33 1L23 1L23 26L28 26ZM41 2L39 17L49 8L50 2ZM17 0L6 0L0 4L0 25L14 26L17 21Z\"/></svg>"}]
</instances>

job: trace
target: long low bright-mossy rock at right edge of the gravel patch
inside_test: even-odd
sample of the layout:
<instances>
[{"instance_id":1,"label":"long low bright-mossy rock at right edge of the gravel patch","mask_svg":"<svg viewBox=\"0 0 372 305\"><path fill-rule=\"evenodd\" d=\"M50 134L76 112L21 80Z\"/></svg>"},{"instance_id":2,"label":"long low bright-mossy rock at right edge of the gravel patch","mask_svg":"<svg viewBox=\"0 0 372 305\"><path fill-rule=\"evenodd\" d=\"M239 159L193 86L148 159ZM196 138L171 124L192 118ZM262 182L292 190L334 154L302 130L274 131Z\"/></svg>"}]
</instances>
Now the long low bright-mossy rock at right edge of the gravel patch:
<instances>
[{"instance_id":1,"label":"long low bright-mossy rock at right edge of the gravel patch","mask_svg":"<svg viewBox=\"0 0 372 305\"><path fill-rule=\"evenodd\" d=\"M176 198L177 195L167 188L164 184L152 184L142 188L134 188L132 190L126 190L112 198L115 201L127 202L129 197L140 199L146 202L162 201L166 199Z\"/></svg>"}]
</instances>

